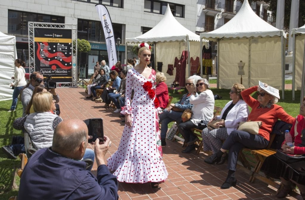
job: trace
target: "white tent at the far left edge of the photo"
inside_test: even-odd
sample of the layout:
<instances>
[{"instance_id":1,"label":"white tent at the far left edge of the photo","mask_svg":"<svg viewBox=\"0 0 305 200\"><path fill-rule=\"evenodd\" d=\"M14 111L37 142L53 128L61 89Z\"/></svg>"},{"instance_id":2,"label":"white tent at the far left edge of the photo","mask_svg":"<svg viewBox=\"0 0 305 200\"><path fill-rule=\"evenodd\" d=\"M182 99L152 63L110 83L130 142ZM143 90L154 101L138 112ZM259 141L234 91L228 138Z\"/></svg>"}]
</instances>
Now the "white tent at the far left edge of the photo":
<instances>
[{"instance_id":1,"label":"white tent at the far left edge of the photo","mask_svg":"<svg viewBox=\"0 0 305 200\"><path fill-rule=\"evenodd\" d=\"M0 32L0 101L12 99L13 90L9 87L15 72L16 37Z\"/></svg>"}]
</instances>

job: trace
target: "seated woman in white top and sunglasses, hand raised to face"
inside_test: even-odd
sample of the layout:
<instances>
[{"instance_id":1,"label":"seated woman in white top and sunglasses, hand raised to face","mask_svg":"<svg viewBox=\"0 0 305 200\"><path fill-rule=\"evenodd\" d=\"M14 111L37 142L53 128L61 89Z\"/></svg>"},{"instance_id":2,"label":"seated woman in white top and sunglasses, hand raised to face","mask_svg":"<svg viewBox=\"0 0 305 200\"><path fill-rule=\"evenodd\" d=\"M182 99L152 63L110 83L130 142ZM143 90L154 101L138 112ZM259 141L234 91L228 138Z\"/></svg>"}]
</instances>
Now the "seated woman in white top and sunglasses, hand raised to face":
<instances>
[{"instance_id":1,"label":"seated woman in white top and sunglasses, hand raised to face","mask_svg":"<svg viewBox=\"0 0 305 200\"><path fill-rule=\"evenodd\" d=\"M183 153L188 153L195 149L194 143L198 140L191 128L197 127L201 120L207 124L213 118L215 100L213 92L209 89L210 84L205 78L197 78L196 80L196 88L199 95L196 96L195 89L189 98L190 103L194 105L192 107L192 119L178 125L178 130L188 145L182 150Z\"/></svg>"}]
</instances>

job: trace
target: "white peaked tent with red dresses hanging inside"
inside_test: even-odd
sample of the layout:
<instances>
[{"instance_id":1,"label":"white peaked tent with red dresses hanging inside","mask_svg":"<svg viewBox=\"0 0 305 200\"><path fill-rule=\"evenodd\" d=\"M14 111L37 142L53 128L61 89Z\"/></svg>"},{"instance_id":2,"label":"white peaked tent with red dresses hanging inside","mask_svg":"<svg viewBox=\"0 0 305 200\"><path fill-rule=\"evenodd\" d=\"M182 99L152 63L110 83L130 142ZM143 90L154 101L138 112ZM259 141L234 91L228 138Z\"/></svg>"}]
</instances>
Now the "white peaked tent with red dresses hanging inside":
<instances>
[{"instance_id":1,"label":"white peaked tent with red dresses hanging inside","mask_svg":"<svg viewBox=\"0 0 305 200\"><path fill-rule=\"evenodd\" d=\"M182 26L173 16L170 11L170 7L167 4L166 12L160 22L147 31L134 38L126 38L125 49L127 49L127 43L141 43L147 42L154 44L155 57L154 63L163 62L162 72L167 77L167 84L170 84L175 79L175 71L172 76L166 73L167 65L174 64L174 59L180 56L183 50L188 51L188 70L185 73L186 77L190 72L190 57L192 55L200 54L199 35L188 30ZM190 54L191 52L191 54ZM125 51L125 58L127 58L127 51Z\"/></svg>"}]
</instances>

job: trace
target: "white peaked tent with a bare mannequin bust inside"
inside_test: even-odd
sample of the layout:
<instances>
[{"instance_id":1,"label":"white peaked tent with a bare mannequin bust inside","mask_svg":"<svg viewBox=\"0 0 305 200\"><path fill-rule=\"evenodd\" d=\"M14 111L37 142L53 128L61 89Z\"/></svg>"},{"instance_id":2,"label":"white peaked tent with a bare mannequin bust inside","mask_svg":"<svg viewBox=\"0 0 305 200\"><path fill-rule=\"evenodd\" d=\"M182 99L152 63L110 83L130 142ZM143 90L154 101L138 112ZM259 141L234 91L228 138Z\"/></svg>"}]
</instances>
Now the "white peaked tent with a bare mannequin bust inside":
<instances>
[{"instance_id":1,"label":"white peaked tent with a bare mannequin bust inside","mask_svg":"<svg viewBox=\"0 0 305 200\"><path fill-rule=\"evenodd\" d=\"M222 27L200 34L200 38L217 41L217 88L227 89L239 82L239 61L245 62L242 78L246 88L257 85L260 80L274 88L284 89L285 37L283 30L257 16L247 0Z\"/></svg>"}]
</instances>

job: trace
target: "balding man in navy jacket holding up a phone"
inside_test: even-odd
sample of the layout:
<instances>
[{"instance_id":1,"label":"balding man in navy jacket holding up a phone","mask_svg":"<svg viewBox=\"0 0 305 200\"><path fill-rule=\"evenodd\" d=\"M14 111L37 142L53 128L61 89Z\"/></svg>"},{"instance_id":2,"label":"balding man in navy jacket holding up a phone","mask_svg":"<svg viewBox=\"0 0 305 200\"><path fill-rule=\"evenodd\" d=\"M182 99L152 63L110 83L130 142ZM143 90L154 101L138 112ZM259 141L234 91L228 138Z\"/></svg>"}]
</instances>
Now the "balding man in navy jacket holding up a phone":
<instances>
[{"instance_id":1,"label":"balding man in navy jacket holding up a phone","mask_svg":"<svg viewBox=\"0 0 305 200\"><path fill-rule=\"evenodd\" d=\"M118 199L117 177L104 161L111 143L95 141L97 174L81 161L88 145L87 125L76 119L64 120L54 131L53 144L35 152L20 179L18 197L30 199ZM18 198L18 199L19 199Z\"/></svg>"}]
</instances>

